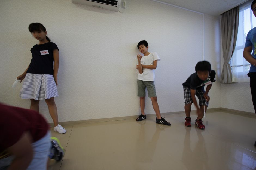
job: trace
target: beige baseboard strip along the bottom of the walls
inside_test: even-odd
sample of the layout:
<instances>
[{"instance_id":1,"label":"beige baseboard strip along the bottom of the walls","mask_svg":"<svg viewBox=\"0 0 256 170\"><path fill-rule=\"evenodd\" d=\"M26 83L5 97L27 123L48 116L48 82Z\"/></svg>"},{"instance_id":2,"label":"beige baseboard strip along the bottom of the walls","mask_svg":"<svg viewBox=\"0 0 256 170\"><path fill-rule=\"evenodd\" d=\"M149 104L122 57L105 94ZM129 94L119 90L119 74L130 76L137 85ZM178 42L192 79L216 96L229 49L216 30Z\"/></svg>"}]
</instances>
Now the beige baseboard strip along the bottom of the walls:
<instances>
[{"instance_id":1,"label":"beige baseboard strip along the bottom of the walls","mask_svg":"<svg viewBox=\"0 0 256 170\"><path fill-rule=\"evenodd\" d=\"M255 116L255 113L252 112L244 112L234 109L227 109L227 108L209 108L207 109L207 112L214 112L214 111L228 111L228 112L235 112L235 113L241 113L246 115L252 115ZM178 112L166 112L161 113L162 116L164 115L174 115L174 114L182 114L184 111L178 111ZM196 110L191 110L191 114L196 114ZM155 117L156 114L147 114L147 117ZM68 122L59 122L61 125L75 125L75 124L84 124L84 123L95 123L95 122L109 122L109 121L118 121L118 120L127 120L127 119L136 119L138 115L135 116L124 116L124 117L114 117L114 118L101 118L101 119L89 119L89 120L78 120L78 121L68 121ZM53 123L49 123L50 127L53 127Z\"/></svg>"}]
</instances>

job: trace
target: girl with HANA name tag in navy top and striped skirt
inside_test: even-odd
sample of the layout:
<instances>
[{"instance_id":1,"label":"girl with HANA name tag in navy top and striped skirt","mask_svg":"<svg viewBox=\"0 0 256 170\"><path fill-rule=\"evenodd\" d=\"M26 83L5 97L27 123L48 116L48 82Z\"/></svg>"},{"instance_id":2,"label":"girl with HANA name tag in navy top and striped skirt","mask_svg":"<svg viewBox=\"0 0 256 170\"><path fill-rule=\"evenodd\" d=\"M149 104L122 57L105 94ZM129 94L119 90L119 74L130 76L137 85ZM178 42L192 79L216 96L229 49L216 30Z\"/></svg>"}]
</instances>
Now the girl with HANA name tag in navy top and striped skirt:
<instances>
[{"instance_id":1,"label":"girl with HANA name tag in navy top and striped skirt","mask_svg":"<svg viewBox=\"0 0 256 170\"><path fill-rule=\"evenodd\" d=\"M65 128L59 125L57 107L54 97L58 96L57 73L59 69L59 49L46 36L45 27L40 23L31 23L28 27L32 36L39 41L31 48L32 59L28 68L17 79L23 80L20 97L30 99L30 109L39 112L39 101L45 100L54 130L66 133Z\"/></svg>"}]
</instances>

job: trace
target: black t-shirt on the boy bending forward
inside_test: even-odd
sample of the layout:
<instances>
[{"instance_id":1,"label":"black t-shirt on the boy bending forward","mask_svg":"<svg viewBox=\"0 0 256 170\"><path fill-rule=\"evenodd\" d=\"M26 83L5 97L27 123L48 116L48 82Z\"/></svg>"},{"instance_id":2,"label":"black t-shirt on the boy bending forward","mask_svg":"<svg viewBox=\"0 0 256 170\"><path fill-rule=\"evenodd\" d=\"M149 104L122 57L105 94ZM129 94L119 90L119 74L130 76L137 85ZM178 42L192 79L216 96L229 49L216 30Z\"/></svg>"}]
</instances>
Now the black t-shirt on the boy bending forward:
<instances>
[{"instance_id":1,"label":"black t-shirt on the boy bending forward","mask_svg":"<svg viewBox=\"0 0 256 170\"><path fill-rule=\"evenodd\" d=\"M205 84L207 84L209 81L215 82L215 71L212 70L211 73L209 74L209 77L207 80L203 81L201 80L196 73L191 74L188 79L186 80L185 83L182 84L183 87L189 87L193 90L202 90L204 89Z\"/></svg>"}]
</instances>

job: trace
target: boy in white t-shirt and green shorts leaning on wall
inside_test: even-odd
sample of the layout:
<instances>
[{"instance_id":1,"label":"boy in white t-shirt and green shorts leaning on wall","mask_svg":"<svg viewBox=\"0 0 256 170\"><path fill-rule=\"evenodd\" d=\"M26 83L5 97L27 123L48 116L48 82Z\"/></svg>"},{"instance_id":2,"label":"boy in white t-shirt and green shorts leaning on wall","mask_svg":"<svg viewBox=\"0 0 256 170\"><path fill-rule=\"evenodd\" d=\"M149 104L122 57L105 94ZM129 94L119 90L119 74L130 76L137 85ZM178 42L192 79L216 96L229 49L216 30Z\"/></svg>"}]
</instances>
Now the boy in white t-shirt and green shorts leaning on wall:
<instances>
[{"instance_id":1,"label":"boy in white t-shirt and green shorts leaning on wall","mask_svg":"<svg viewBox=\"0 0 256 170\"><path fill-rule=\"evenodd\" d=\"M147 87L148 97L152 101L153 108L156 112L156 123L164 124L170 126L171 124L164 120L161 117L159 106L157 103L156 97L156 88L155 88L155 69L157 67L157 61L161 59L157 53L148 52L148 43L145 40L142 40L137 45L139 51L144 55L137 55L138 65L136 66L136 71L138 73L138 96L140 97L140 106L141 106L141 115L136 119L136 121L142 121L146 119L144 112L145 108L145 90Z\"/></svg>"}]
</instances>

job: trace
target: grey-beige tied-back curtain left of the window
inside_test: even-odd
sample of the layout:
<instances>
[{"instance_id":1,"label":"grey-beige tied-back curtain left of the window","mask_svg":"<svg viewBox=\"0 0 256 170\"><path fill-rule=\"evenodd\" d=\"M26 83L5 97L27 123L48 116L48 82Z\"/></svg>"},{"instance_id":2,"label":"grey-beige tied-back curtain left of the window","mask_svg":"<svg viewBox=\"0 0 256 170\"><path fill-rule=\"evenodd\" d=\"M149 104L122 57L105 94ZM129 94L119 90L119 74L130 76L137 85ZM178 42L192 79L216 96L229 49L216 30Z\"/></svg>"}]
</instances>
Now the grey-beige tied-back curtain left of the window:
<instances>
[{"instance_id":1,"label":"grey-beige tied-back curtain left of the window","mask_svg":"<svg viewBox=\"0 0 256 170\"><path fill-rule=\"evenodd\" d=\"M221 73L221 83L232 83L232 71L229 64L236 48L239 21L239 7L235 7L222 14L221 34L224 64Z\"/></svg>"}]
</instances>

